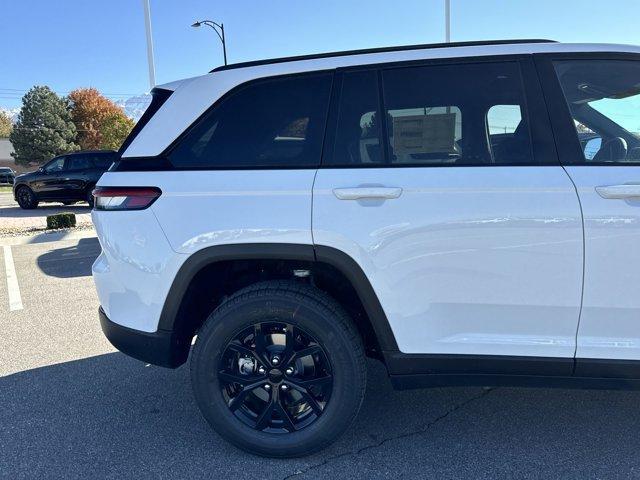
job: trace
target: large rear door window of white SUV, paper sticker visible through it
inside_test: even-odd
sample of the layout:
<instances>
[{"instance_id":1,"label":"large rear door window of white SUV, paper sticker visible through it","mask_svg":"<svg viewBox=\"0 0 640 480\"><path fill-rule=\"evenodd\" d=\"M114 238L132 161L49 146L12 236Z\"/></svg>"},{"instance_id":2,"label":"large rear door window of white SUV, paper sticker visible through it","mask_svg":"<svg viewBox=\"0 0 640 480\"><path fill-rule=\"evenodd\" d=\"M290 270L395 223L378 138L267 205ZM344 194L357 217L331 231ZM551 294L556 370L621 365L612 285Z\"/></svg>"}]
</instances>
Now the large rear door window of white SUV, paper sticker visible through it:
<instances>
[{"instance_id":1,"label":"large rear door window of white SUV, paper sticker visible through it","mask_svg":"<svg viewBox=\"0 0 640 480\"><path fill-rule=\"evenodd\" d=\"M516 63L398 68L384 71L383 79L391 163L533 163ZM500 125L492 128L489 120L498 116ZM508 136L498 138L501 126Z\"/></svg>"}]
</instances>

